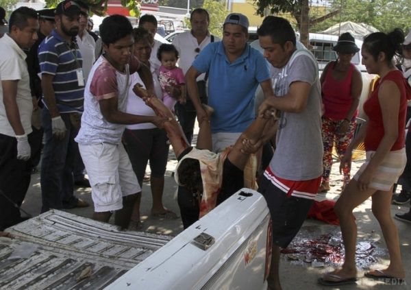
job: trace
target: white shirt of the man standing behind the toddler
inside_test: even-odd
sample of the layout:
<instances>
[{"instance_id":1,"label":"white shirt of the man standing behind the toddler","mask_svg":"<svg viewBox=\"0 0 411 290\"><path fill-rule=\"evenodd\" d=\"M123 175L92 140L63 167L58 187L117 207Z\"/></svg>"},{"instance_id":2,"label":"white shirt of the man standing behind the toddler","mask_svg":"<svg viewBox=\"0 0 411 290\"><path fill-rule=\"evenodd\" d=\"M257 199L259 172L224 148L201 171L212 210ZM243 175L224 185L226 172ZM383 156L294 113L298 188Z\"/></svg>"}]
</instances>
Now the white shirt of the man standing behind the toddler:
<instances>
[{"instance_id":1,"label":"white shirt of the man standing behind the toddler","mask_svg":"<svg viewBox=\"0 0 411 290\"><path fill-rule=\"evenodd\" d=\"M190 69L192 62L198 56L199 52L196 52L196 49L202 51L204 47L206 47L211 41L211 36L208 34L206 38L199 44L197 38L192 36L191 32L183 32L177 34L173 40L173 45L179 51L179 60L177 62L178 67L180 67L184 75L187 73L188 69ZM214 43L220 41L220 38L214 36ZM206 76L205 73L202 73L197 77L197 81L204 80Z\"/></svg>"}]
</instances>

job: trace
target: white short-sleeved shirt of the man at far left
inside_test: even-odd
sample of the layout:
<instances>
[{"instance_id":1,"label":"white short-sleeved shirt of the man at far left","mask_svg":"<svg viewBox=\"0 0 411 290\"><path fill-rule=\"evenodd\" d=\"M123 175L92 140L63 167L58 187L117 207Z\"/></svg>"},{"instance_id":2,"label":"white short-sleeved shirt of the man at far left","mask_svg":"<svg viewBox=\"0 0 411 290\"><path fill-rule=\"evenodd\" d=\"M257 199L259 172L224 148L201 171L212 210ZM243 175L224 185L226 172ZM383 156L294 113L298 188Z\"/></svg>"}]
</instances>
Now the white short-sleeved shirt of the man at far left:
<instances>
[{"instance_id":1,"label":"white short-sleeved shirt of the man at far left","mask_svg":"<svg viewBox=\"0 0 411 290\"><path fill-rule=\"evenodd\" d=\"M0 80L18 80L16 102L20 121L25 134L32 132L33 102L30 92L29 72L25 62L26 54L18 47L16 42L4 34L0 38ZM3 103L3 87L0 86L0 134L16 136L7 115Z\"/></svg>"}]
</instances>

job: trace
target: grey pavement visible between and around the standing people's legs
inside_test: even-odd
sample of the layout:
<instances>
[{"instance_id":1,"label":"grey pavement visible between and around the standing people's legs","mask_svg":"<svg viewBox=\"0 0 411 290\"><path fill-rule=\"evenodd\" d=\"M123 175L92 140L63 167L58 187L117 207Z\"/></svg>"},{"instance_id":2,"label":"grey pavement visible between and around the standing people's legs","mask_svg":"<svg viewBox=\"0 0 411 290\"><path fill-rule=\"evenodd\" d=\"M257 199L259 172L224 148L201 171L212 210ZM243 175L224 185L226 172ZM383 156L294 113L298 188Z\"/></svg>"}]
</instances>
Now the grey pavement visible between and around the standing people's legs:
<instances>
[{"instance_id":1,"label":"grey pavement visible between and around the standing people's legs","mask_svg":"<svg viewBox=\"0 0 411 290\"><path fill-rule=\"evenodd\" d=\"M175 191L177 186L174 179L171 177L171 173L176 165L175 156L172 152L169 155L169 162L167 164L167 171L165 176L165 189L164 189L164 205L173 210L175 213L179 214L179 208L177 206L177 201L175 200ZM355 173L358 167L360 167L361 162L354 162L352 173ZM319 194L317 200L324 200L325 198L331 200L337 200L340 194L340 176L338 174L338 163L334 164L332 170L332 176L330 179L331 190L327 194ZM397 189L398 191L399 189ZM149 182L144 182L142 188L142 203L141 203L141 219L142 219L142 229L148 232L156 232L161 234L177 235L183 230L182 222L180 219L160 219L151 217L151 193ZM77 188L75 194L77 197L90 202L92 204L90 189ZM391 206L392 214L404 213L408 211L409 204L405 206ZM32 184L27 193L25 202L22 208L27 211L27 213L35 216L40 213L41 208L41 193L40 193L40 175L35 173L32 175ZM92 216L92 206L88 208L74 208L71 210L66 210L69 213L74 213L75 215L81 215L84 217ZM364 204L359 206L355 211L356 219L358 222L358 242L365 243L366 245L373 245L374 250L368 252L366 257L360 258L360 263L364 269L359 269L359 278L357 285L345 285L340 287L323 287L317 284L316 280L325 273L332 269L329 264L325 264L324 267L321 263L315 263L316 261L311 261L312 258L291 258L292 256L288 254L282 255L281 261L281 277L283 289L411 289L411 223L404 223L402 221L395 220L399 230L399 239L401 245L401 252L403 257L403 263L406 268L406 276L410 280L408 285L390 285L386 284L383 280L375 281L369 278L362 278L364 271L366 271L370 266L371 268L379 269L381 267L386 267L388 263L388 254L384 250L385 243L382 237L382 232L379 225L371 213L371 200L366 200ZM331 226L321 221L316 221L312 219L306 220L301 229L299 235L296 237L296 241L316 240L323 234L329 234L331 236L338 237L339 227ZM341 245L338 245L341 248ZM369 259L373 260L375 258L377 263L370 265ZM368 259L368 260L366 260Z\"/></svg>"}]
</instances>

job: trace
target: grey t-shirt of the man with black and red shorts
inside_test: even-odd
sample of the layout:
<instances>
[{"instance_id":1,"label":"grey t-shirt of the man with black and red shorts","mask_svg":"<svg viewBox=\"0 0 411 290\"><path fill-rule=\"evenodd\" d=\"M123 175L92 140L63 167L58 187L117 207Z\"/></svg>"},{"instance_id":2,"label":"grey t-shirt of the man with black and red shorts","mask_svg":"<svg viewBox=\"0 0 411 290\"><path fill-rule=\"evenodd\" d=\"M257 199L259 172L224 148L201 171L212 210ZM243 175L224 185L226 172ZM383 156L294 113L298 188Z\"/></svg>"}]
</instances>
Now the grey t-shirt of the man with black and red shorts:
<instances>
[{"instance_id":1,"label":"grey t-shirt of the man with black and red shorts","mask_svg":"<svg viewBox=\"0 0 411 290\"><path fill-rule=\"evenodd\" d=\"M316 60L310 51L296 50L281 69L271 67L276 97L287 97L293 83L311 86L301 95L301 108L281 110L276 149L270 167L275 176L286 180L311 180L323 174L319 156L323 156L321 139L321 86ZM280 100L281 101L281 100ZM284 99L284 102L287 100ZM279 109L279 108L277 108Z\"/></svg>"}]
</instances>

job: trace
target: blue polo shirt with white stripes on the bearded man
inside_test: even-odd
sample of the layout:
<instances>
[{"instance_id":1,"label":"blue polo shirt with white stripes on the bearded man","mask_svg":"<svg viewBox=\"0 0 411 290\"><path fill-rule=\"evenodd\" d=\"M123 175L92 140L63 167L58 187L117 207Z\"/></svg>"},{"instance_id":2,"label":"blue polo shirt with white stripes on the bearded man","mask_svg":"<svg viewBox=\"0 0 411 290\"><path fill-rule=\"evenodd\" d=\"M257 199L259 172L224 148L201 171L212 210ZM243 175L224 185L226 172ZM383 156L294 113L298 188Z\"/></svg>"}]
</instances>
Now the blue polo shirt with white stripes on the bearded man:
<instances>
[{"instance_id":1,"label":"blue polo shirt with white stripes on the bearded man","mask_svg":"<svg viewBox=\"0 0 411 290\"><path fill-rule=\"evenodd\" d=\"M83 60L77 43L67 43L54 29L40 43L38 61L41 74L54 75L53 89L60 113L83 112L84 86L78 85L76 73L82 69Z\"/></svg>"}]
</instances>

